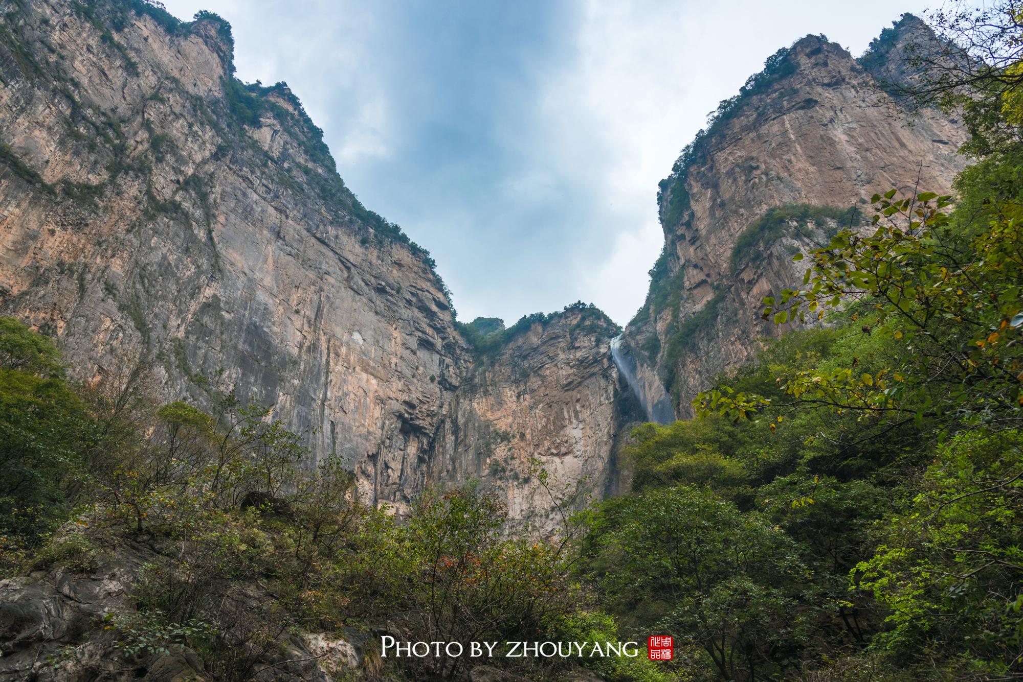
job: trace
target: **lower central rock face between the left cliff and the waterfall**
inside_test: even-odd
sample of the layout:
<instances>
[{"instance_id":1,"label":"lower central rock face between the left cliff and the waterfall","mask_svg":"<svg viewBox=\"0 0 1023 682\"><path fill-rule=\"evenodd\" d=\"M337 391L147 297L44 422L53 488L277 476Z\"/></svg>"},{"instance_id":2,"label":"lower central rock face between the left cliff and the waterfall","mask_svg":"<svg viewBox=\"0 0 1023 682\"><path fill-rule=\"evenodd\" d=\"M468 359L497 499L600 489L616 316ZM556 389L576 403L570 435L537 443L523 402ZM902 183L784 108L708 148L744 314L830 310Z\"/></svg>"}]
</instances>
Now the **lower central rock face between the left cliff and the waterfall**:
<instances>
[{"instance_id":1,"label":"lower central rock face between the left cliff and the waterfall","mask_svg":"<svg viewBox=\"0 0 1023 682\"><path fill-rule=\"evenodd\" d=\"M601 313L569 309L481 358L438 434L431 478L484 481L522 525L557 528L616 484L618 371ZM546 485L531 468L542 466ZM567 487L566 487L567 486Z\"/></svg>"}]
</instances>

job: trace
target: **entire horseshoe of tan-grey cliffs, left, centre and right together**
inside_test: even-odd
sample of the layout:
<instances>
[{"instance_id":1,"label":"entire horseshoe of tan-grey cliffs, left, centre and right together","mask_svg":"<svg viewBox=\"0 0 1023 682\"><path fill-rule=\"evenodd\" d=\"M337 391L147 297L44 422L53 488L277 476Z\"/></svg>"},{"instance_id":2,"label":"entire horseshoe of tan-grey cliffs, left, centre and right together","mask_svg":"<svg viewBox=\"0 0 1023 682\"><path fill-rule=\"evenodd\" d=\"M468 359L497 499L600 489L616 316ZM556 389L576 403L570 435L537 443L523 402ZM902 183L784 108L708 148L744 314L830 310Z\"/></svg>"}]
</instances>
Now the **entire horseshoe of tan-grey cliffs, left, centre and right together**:
<instances>
[{"instance_id":1,"label":"entire horseshoe of tan-grey cliffs, left, centre and right together","mask_svg":"<svg viewBox=\"0 0 1023 682\"><path fill-rule=\"evenodd\" d=\"M872 76L919 20L870 70L818 37L780 51L662 183L665 252L620 376L618 329L586 306L468 338L429 254L345 187L287 87L233 77L216 15L0 4L0 313L85 380L141 361L167 399L234 386L399 512L481 479L549 530L615 491L625 424L684 415L777 334L759 300L801 276L793 252L965 161L953 118L910 120Z\"/></svg>"}]
</instances>

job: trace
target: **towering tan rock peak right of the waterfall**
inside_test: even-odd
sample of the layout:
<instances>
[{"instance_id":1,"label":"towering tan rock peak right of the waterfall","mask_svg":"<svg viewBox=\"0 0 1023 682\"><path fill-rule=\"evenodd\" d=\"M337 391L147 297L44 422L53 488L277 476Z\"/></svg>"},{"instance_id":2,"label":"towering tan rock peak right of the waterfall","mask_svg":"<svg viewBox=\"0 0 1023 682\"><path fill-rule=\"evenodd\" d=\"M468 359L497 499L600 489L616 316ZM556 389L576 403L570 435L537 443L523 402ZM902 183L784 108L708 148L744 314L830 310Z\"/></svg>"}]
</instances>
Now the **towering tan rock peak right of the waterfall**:
<instances>
[{"instance_id":1,"label":"towering tan rock peak right of the waterfall","mask_svg":"<svg viewBox=\"0 0 1023 682\"><path fill-rule=\"evenodd\" d=\"M920 29L919 20L900 27ZM749 361L760 347L756 339L781 335L782 328L759 319L761 298L801 281L807 261L793 262L796 251L816 248L845 227L834 220L793 223L773 239L740 241L751 224L794 203L857 206L869 215L870 197L893 187L945 193L967 160L957 154L966 133L954 117L925 109L908 118L840 46L808 36L788 59L793 72L747 95L685 168L688 205L675 220L669 217L675 176L662 185L665 279L675 296L649 315L640 311L626 341L653 348L647 361L662 377L674 373L668 388L679 416L716 374ZM668 367L673 332L705 308L700 324L675 340L684 350Z\"/></svg>"}]
</instances>

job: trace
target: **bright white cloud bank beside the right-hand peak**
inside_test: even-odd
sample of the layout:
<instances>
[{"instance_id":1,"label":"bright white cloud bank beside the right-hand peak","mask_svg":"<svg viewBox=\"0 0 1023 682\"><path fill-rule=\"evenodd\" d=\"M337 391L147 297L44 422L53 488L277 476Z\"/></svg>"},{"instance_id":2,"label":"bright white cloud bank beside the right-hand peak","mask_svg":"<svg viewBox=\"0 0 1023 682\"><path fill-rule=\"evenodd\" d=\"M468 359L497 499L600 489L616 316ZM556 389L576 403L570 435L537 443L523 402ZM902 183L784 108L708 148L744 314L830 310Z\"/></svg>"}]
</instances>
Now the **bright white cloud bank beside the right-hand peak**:
<instances>
[{"instance_id":1,"label":"bright white cloud bank beside the right-hand peak","mask_svg":"<svg viewBox=\"0 0 1023 682\"><path fill-rule=\"evenodd\" d=\"M920 10L918 6L903 8ZM575 58L550 65L533 144L585 188L593 222L566 300L593 300L624 324L642 303L663 245L657 183L717 102L807 33L862 51L898 13L888 2L579 0ZM569 292L567 292L569 293Z\"/></svg>"}]
</instances>

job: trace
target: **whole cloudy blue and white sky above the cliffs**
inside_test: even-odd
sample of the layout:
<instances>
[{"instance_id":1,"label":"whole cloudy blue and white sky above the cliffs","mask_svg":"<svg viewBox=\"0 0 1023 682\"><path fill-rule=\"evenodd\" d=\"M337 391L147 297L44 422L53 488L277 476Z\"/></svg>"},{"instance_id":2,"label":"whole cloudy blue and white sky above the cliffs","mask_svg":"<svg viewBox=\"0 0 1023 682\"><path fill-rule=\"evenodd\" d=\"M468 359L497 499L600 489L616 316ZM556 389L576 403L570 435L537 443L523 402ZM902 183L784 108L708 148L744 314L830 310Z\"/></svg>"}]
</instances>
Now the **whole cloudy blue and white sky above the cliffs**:
<instances>
[{"instance_id":1,"label":"whole cloudy blue and white sky above the cliffs","mask_svg":"<svg viewBox=\"0 0 1023 682\"><path fill-rule=\"evenodd\" d=\"M916 0L165 0L285 81L342 178L428 248L459 318L592 301L625 324L663 244L657 183L780 47L860 54ZM932 3L933 4L933 3Z\"/></svg>"}]
</instances>

